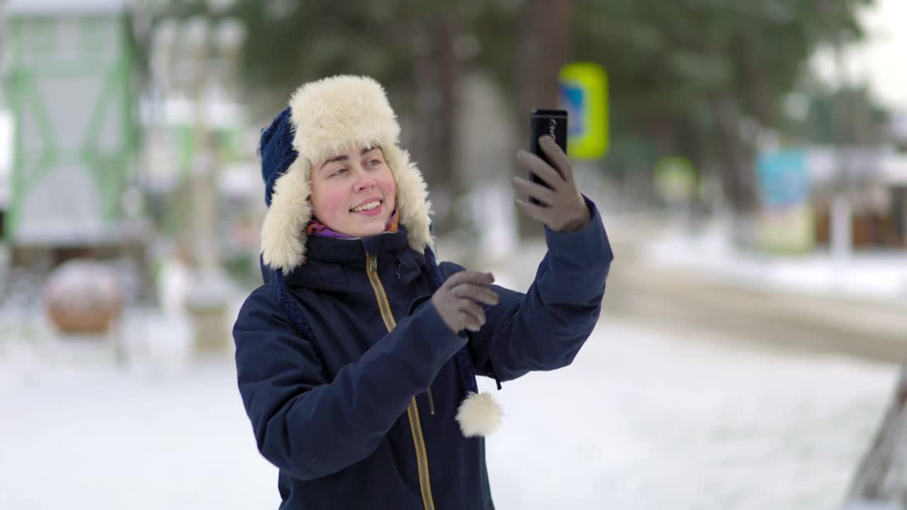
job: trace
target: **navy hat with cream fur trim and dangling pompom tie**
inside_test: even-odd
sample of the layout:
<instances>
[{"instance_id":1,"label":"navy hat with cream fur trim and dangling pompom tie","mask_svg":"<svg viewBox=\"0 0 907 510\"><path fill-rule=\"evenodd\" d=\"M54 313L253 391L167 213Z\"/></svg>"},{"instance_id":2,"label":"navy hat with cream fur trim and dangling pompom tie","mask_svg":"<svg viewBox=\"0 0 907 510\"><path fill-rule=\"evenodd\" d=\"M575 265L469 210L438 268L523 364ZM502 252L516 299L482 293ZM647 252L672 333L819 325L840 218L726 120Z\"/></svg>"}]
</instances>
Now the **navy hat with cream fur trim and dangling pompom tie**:
<instances>
[{"instance_id":1,"label":"navy hat with cream fur trim and dangling pompom tie","mask_svg":"<svg viewBox=\"0 0 907 510\"><path fill-rule=\"evenodd\" d=\"M262 132L258 147L268 204L261 227L262 263L273 271L278 286L284 286L281 275L306 262L312 165L360 147L380 147L384 153L394 176L399 222L405 226L410 247L429 261L433 287L441 285L428 191L422 173L399 148L399 136L400 125L385 91L371 78L332 76L306 83L293 93L288 107ZM286 299L280 302L291 306ZM499 425L501 408L490 394L478 393L468 348L454 358L467 392L456 419L464 436L487 436Z\"/></svg>"}]
</instances>

